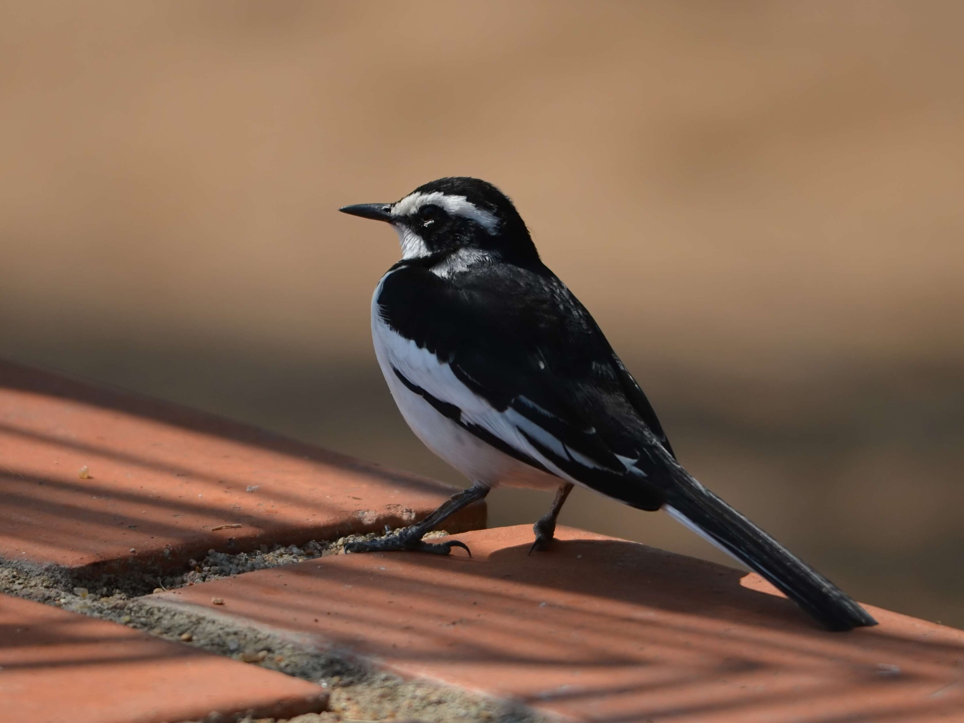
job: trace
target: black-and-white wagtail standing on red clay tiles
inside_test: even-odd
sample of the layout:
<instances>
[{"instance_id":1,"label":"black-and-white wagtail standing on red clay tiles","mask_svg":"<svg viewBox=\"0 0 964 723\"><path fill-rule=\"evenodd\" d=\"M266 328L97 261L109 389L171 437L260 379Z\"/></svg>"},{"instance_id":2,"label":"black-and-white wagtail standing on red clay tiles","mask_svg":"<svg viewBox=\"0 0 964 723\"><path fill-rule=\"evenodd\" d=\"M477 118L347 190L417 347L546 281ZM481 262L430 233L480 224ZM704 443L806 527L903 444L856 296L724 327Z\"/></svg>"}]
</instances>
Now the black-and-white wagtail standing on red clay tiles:
<instances>
[{"instance_id":1,"label":"black-and-white wagtail standing on red clay tiles","mask_svg":"<svg viewBox=\"0 0 964 723\"><path fill-rule=\"evenodd\" d=\"M529 551L547 549L575 485L663 510L760 574L830 630L876 621L677 460L642 388L569 288L542 262L514 203L450 176L400 201L343 213L388 223L401 259L371 304L375 356L415 436L472 483L397 533L349 553L469 547L423 535L499 486L554 493Z\"/></svg>"}]
</instances>

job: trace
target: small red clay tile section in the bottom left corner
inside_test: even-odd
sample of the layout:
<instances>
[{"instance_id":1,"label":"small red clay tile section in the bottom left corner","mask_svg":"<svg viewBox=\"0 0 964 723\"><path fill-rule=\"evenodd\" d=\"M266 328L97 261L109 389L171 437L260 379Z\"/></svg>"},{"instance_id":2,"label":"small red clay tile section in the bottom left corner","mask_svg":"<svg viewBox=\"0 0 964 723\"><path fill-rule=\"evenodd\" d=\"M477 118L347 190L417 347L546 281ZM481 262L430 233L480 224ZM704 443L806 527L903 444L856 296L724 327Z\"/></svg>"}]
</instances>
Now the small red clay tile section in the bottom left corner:
<instances>
[{"instance_id":1,"label":"small red clay tile section in the bottom left corner","mask_svg":"<svg viewBox=\"0 0 964 723\"><path fill-rule=\"evenodd\" d=\"M0 710L18 723L163 723L325 710L318 685L0 596Z\"/></svg>"}]
</instances>

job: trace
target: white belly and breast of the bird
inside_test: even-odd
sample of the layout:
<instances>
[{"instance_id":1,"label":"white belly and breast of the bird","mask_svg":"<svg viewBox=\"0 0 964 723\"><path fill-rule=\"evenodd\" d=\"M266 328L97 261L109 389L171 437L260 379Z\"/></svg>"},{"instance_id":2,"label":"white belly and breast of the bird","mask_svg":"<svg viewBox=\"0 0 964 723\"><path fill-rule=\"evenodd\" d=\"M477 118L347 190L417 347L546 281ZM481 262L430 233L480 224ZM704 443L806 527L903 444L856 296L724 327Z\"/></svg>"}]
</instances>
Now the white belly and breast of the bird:
<instances>
[{"instance_id":1,"label":"white belly and breast of the bird","mask_svg":"<svg viewBox=\"0 0 964 723\"><path fill-rule=\"evenodd\" d=\"M562 484L558 477L530 467L482 442L402 384L392 367L416 384L426 374L446 378L452 373L447 364L440 364L434 355L424 350L416 350L412 342L396 334L381 319L375 303L381 286L379 283L372 299L371 331L375 356L382 367L391 396L415 436L473 482L482 482L490 487L509 485L540 490L555 490ZM442 398L442 401L456 403L458 400Z\"/></svg>"}]
</instances>

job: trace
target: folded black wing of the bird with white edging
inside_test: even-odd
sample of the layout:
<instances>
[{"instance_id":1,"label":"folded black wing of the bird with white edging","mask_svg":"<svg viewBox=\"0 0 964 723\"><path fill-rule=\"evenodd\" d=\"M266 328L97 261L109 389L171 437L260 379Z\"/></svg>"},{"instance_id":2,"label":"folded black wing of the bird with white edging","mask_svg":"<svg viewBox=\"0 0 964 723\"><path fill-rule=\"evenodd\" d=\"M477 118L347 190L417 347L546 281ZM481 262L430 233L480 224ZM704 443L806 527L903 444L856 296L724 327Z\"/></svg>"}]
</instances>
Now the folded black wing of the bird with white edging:
<instances>
[{"instance_id":1,"label":"folded black wing of the bird with white edging","mask_svg":"<svg viewBox=\"0 0 964 723\"><path fill-rule=\"evenodd\" d=\"M392 354L407 388L526 464L635 507L662 505L647 472L660 456L656 446L668 447L656 415L639 391L654 430L627 393L627 380L638 387L560 281L532 275L520 307L514 289L497 279L459 287L418 271L394 272L383 291L396 293L388 282L405 281L407 303L385 305L383 319L421 341ZM423 305L433 308L431 325L418 313Z\"/></svg>"}]
</instances>

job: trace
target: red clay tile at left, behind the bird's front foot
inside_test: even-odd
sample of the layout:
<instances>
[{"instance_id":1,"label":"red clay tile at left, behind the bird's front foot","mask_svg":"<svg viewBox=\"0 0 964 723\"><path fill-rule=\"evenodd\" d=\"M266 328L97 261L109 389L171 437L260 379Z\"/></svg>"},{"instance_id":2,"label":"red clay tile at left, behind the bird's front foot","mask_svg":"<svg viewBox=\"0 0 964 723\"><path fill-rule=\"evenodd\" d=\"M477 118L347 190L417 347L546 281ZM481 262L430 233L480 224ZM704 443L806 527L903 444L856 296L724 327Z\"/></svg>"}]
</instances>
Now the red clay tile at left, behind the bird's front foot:
<instances>
[{"instance_id":1,"label":"red clay tile at left, behind the bird's front foot","mask_svg":"<svg viewBox=\"0 0 964 723\"><path fill-rule=\"evenodd\" d=\"M400 526L454 492L10 362L0 362L0 462L0 555L70 567ZM478 504L446 522L482 526Z\"/></svg>"}]
</instances>

